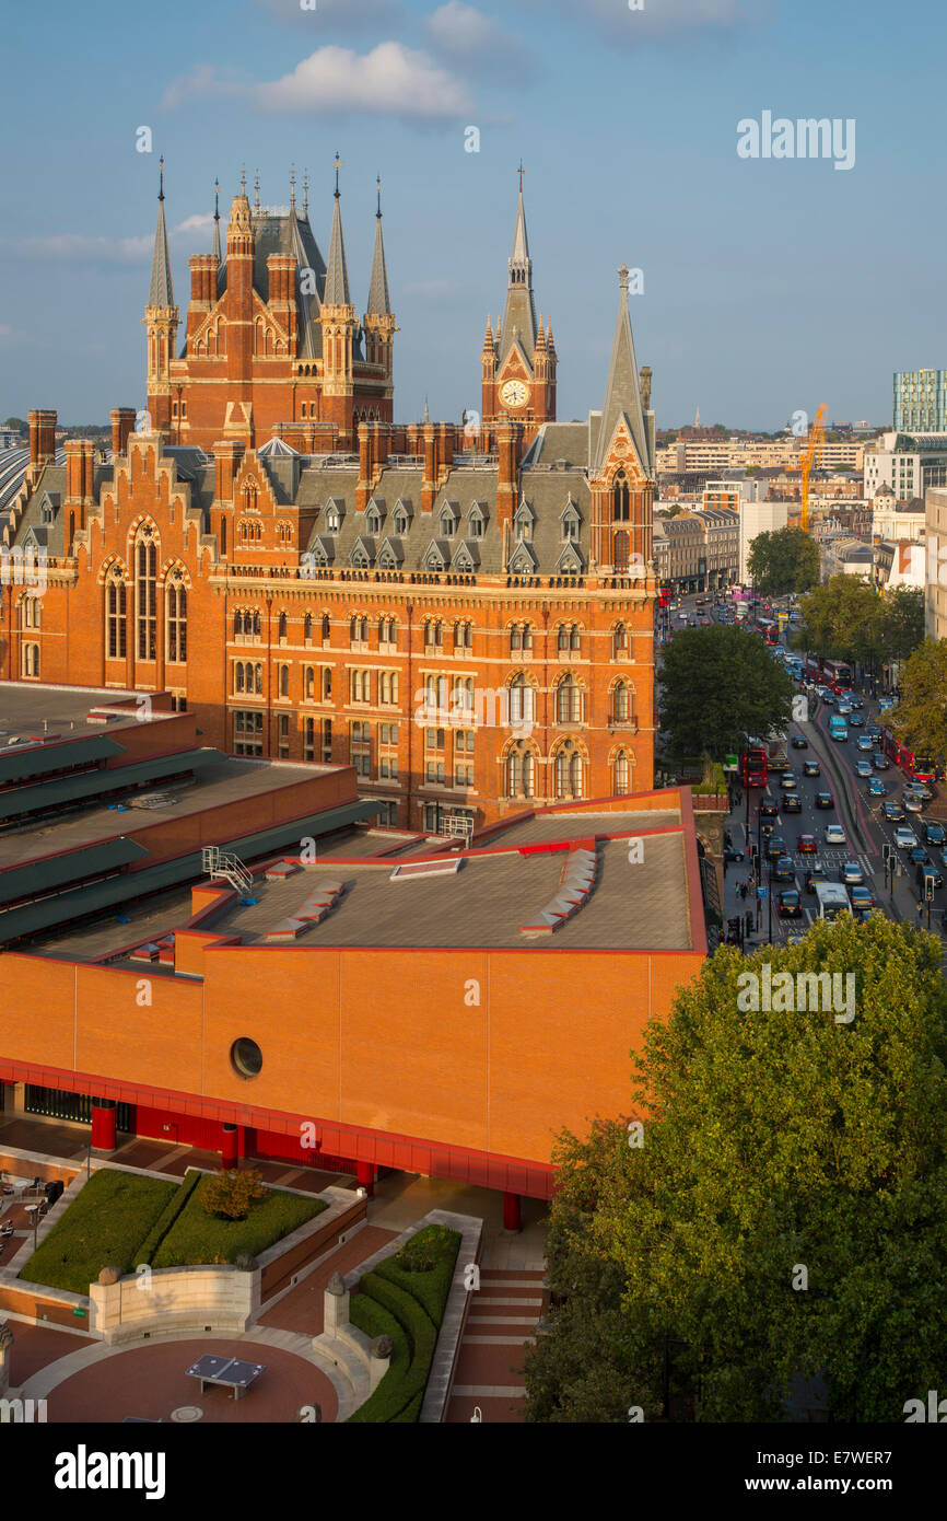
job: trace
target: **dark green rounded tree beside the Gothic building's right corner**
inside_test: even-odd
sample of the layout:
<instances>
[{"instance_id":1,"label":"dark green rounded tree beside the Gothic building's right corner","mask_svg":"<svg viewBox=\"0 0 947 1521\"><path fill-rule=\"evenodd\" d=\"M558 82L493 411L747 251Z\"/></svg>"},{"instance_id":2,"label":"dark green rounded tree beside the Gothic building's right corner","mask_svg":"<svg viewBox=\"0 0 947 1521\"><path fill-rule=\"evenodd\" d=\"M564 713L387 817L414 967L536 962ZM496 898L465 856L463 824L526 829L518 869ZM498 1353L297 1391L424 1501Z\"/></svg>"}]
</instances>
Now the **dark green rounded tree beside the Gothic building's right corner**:
<instances>
[{"instance_id":1,"label":"dark green rounded tree beside the Gothic building's right corner","mask_svg":"<svg viewBox=\"0 0 947 1521\"><path fill-rule=\"evenodd\" d=\"M661 663L661 729L678 756L722 760L790 716L793 684L762 639L733 624L683 628Z\"/></svg>"}]
</instances>

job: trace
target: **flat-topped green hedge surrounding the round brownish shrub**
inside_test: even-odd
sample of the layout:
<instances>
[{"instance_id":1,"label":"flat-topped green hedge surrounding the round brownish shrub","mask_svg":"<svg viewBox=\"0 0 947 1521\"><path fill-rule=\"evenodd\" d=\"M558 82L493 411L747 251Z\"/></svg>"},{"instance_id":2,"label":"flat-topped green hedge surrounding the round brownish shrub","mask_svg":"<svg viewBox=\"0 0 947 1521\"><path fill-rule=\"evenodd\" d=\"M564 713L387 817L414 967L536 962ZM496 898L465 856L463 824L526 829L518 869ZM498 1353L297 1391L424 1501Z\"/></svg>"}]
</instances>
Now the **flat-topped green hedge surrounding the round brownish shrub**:
<instances>
[{"instance_id":1,"label":"flat-topped green hedge surrounding the round brownish shrub","mask_svg":"<svg viewBox=\"0 0 947 1521\"><path fill-rule=\"evenodd\" d=\"M251 1205L246 1220L208 1215L202 1194L213 1174L204 1174L152 1256L152 1267L190 1267L195 1262L234 1262L243 1252L258 1256L274 1241L298 1230L328 1208L324 1199L272 1189Z\"/></svg>"}]
</instances>

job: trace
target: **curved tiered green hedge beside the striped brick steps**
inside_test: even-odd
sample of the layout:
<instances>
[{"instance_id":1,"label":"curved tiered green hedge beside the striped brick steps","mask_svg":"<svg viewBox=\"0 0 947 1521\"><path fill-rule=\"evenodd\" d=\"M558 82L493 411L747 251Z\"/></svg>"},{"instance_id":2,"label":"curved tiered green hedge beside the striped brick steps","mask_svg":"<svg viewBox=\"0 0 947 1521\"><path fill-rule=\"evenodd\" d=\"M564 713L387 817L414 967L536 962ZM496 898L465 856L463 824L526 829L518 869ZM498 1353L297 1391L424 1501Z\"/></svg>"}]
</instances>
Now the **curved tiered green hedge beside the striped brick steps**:
<instances>
[{"instance_id":1,"label":"curved tiered green hedge beside the striped brick steps","mask_svg":"<svg viewBox=\"0 0 947 1521\"><path fill-rule=\"evenodd\" d=\"M369 1335L388 1329L395 1342L391 1367L365 1404L348 1419L357 1422L409 1424L418 1419L427 1377L438 1345L438 1328L450 1293L454 1262L461 1249L458 1230L442 1226L426 1226L416 1234L433 1249L435 1265L424 1273L409 1273L398 1256L385 1258L377 1269L359 1281L359 1293L351 1299L350 1316L354 1325ZM416 1240L415 1238L415 1240ZM369 1308L371 1307L371 1308ZM398 1338L385 1320L397 1322L409 1351L404 1366ZM374 1329L378 1325L380 1329ZM369 1329L372 1326L372 1329Z\"/></svg>"}]
</instances>

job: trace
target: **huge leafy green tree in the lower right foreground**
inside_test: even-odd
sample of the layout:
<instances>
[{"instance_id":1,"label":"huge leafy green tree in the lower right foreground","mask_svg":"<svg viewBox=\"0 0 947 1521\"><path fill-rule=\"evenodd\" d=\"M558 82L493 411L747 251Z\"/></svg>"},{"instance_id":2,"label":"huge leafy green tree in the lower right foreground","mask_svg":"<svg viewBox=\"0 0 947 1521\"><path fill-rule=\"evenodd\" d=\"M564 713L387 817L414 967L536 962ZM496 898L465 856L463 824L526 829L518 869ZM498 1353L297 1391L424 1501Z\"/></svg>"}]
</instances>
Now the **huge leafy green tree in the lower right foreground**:
<instances>
[{"instance_id":1,"label":"huge leafy green tree in the lower right foreground","mask_svg":"<svg viewBox=\"0 0 947 1521\"><path fill-rule=\"evenodd\" d=\"M672 1415L676 1392L707 1422L784 1421L797 1377L824 1383L833 1421L903 1421L942 1386L939 957L880 914L816 922L798 946L721 948L649 1024L629 1094L643 1144L614 1121L556 1150L558 1307L526 1360L529 1419L657 1419L666 1360ZM838 984L816 998L795 973Z\"/></svg>"}]
</instances>

